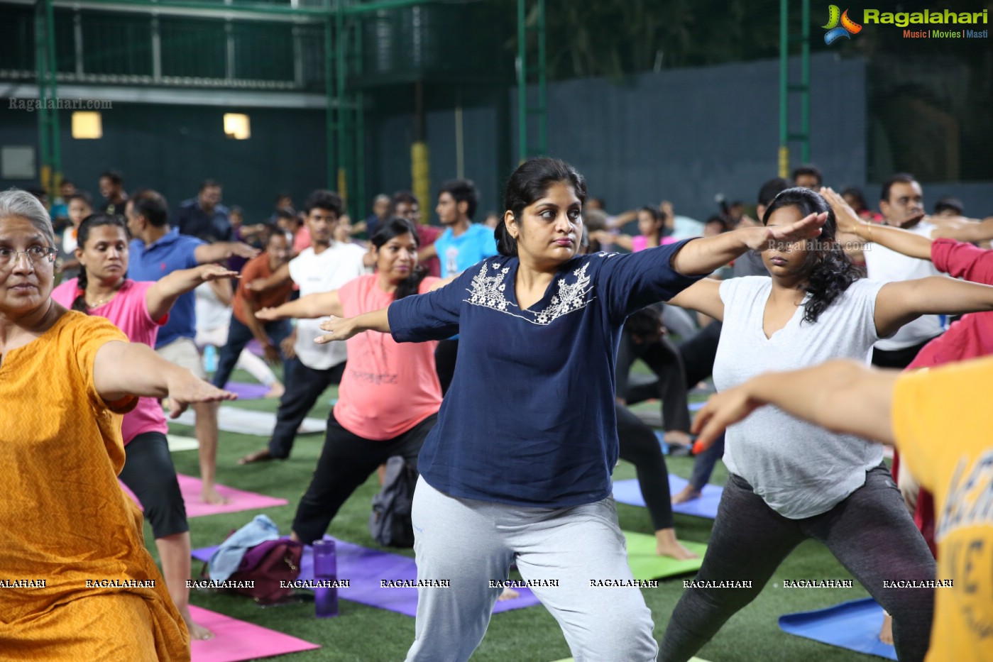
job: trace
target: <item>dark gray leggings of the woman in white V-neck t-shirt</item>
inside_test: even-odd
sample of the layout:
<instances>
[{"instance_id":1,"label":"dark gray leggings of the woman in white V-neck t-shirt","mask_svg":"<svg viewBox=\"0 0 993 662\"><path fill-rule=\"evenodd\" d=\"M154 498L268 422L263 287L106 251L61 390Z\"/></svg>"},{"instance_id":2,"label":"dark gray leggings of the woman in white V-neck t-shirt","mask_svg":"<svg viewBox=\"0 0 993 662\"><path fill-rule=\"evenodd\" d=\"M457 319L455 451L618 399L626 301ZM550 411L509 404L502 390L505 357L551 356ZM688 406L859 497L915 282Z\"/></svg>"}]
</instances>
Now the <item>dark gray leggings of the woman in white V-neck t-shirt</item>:
<instances>
[{"instance_id":1,"label":"dark gray leggings of the woman in white V-neck t-shirt","mask_svg":"<svg viewBox=\"0 0 993 662\"><path fill-rule=\"evenodd\" d=\"M782 560L807 538L823 543L893 615L899 659L923 660L930 641L934 591L884 589L883 582L931 581L934 559L890 470L880 464L866 471L862 487L827 512L795 520L770 508L744 478L731 474L696 580L750 581L752 588L687 589L669 619L659 661L688 660L762 592Z\"/></svg>"}]
</instances>

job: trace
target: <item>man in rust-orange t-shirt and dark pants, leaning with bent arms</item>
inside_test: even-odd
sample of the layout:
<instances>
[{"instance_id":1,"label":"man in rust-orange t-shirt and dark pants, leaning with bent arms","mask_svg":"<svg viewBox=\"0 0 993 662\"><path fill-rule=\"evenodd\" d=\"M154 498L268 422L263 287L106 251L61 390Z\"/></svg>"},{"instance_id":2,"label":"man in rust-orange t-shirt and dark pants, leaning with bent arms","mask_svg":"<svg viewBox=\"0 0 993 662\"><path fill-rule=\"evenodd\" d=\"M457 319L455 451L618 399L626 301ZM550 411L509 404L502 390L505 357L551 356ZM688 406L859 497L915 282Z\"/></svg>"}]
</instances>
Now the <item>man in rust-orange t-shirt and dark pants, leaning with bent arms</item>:
<instances>
[{"instance_id":1,"label":"man in rust-orange t-shirt and dark pants, leaning with bent arms","mask_svg":"<svg viewBox=\"0 0 993 662\"><path fill-rule=\"evenodd\" d=\"M227 383L241 350L253 337L262 345L267 361L276 364L282 360L280 346L293 331L290 322L279 320L262 323L255 319L255 311L285 304L290 298L293 283L287 281L264 292L250 291L245 285L257 279L268 278L292 257L293 241L290 235L273 228L269 232L265 252L249 260L241 270L241 280L231 302L231 326L227 333L227 344L220 349L217 371L213 373L214 384Z\"/></svg>"}]
</instances>

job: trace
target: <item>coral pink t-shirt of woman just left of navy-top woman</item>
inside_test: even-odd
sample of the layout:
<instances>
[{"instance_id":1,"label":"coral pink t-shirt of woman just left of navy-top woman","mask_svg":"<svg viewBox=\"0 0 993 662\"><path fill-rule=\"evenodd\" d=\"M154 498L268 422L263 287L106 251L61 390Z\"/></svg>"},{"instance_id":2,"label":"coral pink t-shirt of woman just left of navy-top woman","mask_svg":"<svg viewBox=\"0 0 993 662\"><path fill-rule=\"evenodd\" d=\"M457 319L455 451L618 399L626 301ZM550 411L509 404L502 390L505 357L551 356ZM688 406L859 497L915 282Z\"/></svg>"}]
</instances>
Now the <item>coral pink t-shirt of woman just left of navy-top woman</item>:
<instances>
[{"instance_id":1,"label":"coral pink t-shirt of woman just left of navy-top woman","mask_svg":"<svg viewBox=\"0 0 993 662\"><path fill-rule=\"evenodd\" d=\"M427 292L437 278L421 281ZM351 318L386 308L393 294L375 274L359 276L338 291ZM365 331L348 340L349 360L339 388L335 419L349 432L375 441L393 439L437 413L441 384L435 371L437 342L396 342L389 333Z\"/></svg>"}]
</instances>

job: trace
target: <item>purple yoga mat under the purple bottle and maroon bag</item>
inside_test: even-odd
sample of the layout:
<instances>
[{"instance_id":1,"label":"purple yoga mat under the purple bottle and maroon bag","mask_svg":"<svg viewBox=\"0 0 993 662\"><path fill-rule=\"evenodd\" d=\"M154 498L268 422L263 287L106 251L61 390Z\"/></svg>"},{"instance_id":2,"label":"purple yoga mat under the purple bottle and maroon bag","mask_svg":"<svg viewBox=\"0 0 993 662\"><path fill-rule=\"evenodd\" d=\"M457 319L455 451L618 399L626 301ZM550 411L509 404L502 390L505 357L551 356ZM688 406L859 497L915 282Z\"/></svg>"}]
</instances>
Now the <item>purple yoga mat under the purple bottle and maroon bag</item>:
<instances>
[{"instance_id":1,"label":"purple yoga mat under the purple bottle and maroon bag","mask_svg":"<svg viewBox=\"0 0 993 662\"><path fill-rule=\"evenodd\" d=\"M413 559L381 550L371 550L327 535L325 539L335 541L338 579L349 580L351 584L348 589L339 589L339 596L408 616L417 614L417 589L383 589L379 586L381 580L416 580L417 566ZM193 558L204 562L210 561L215 549L216 546L194 550ZM302 581L314 579L313 549L309 545L304 548L303 558L300 561L300 579ZM494 613L539 604L538 598L530 589L514 591L520 596L498 601L494 606Z\"/></svg>"}]
</instances>

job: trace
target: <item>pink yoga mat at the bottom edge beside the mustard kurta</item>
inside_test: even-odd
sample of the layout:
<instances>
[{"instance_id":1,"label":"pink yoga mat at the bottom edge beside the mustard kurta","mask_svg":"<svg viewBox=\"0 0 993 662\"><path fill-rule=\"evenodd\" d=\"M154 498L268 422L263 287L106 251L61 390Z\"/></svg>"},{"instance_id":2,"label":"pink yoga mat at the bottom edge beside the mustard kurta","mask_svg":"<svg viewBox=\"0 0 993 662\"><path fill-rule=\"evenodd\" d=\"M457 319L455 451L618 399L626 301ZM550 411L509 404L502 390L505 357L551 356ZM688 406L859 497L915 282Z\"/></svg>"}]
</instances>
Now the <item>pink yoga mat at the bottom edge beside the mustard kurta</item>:
<instances>
[{"instance_id":1,"label":"pink yoga mat at the bottom edge beside the mustard kurta","mask_svg":"<svg viewBox=\"0 0 993 662\"><path fill-rule=\"evenodd\" d=\"M238 662L321 647L193 604L190 615L213 632L213 639L190 642L193 662Z\"/></svg>"}]
</instances>

